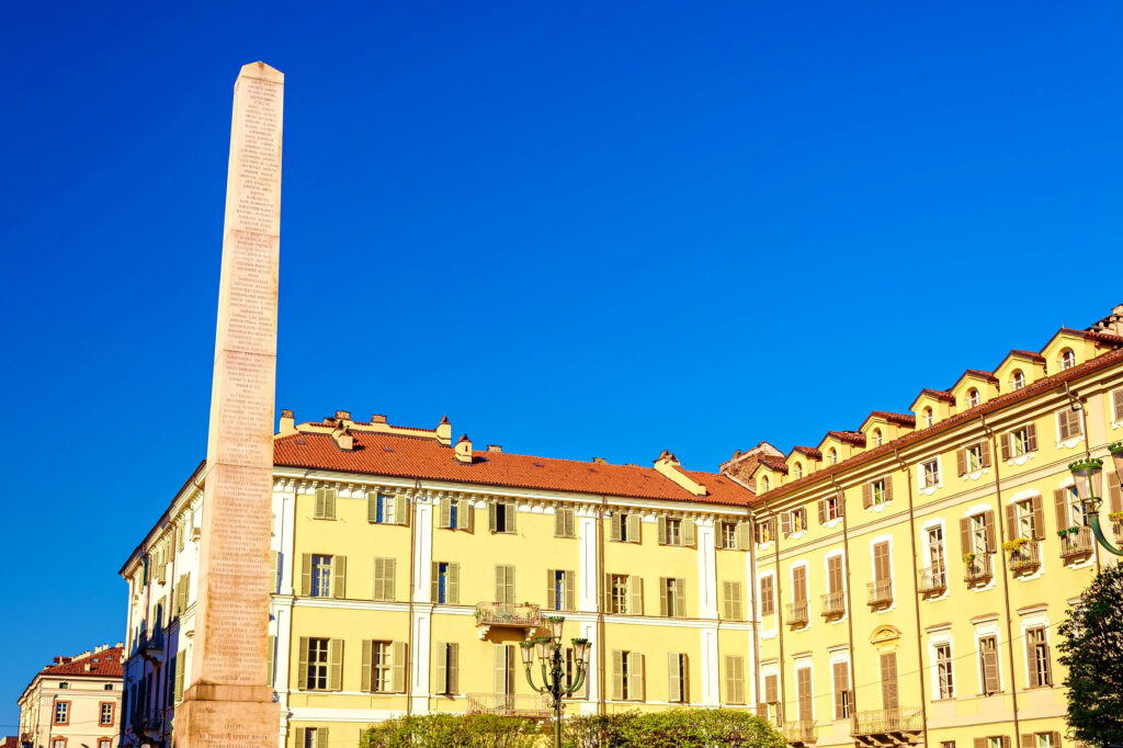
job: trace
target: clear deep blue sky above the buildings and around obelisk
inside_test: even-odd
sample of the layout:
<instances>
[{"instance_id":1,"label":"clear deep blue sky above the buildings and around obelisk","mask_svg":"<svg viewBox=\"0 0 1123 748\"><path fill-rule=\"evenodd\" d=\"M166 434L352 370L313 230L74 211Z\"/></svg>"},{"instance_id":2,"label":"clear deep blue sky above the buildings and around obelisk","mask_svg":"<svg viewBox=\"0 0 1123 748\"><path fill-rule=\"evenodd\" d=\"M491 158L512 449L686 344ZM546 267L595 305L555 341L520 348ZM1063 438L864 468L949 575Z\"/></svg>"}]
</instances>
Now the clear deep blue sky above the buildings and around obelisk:
<instances>
[{"instance_id":1,"label":"clear deep blue sky above the buildings and around obelisk","mask_svg":"<svg viewBox=\"0 0 1123 748\"><path fill-rule=\"evenodd\" d=\"M715 469L1123 302L1117 3L164 6L0 21L4 733L203 456L244 63L300 419Z\"/></svg>"}]
</instances>

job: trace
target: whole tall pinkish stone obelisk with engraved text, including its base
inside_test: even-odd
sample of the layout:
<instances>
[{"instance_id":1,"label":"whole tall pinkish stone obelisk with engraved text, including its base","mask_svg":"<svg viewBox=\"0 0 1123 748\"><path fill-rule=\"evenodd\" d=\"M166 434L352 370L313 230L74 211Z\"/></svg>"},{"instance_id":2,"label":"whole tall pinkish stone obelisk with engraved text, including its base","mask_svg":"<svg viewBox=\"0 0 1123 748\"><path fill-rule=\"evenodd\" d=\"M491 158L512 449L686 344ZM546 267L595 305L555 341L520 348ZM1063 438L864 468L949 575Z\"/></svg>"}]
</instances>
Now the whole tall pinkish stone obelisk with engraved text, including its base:
<instances>
[{"instance_id":1,"label":"whole tall pinkish stone obelisk with engraved text, including its base","mask_svg":"<svg viewBox=\"0 0 1123 748\"><path fill-rule=\"evenodd\" d=\"M266 681L284 75L234 84L195 635L175 746L275 748Z\"/></svg>"}]
</instances>

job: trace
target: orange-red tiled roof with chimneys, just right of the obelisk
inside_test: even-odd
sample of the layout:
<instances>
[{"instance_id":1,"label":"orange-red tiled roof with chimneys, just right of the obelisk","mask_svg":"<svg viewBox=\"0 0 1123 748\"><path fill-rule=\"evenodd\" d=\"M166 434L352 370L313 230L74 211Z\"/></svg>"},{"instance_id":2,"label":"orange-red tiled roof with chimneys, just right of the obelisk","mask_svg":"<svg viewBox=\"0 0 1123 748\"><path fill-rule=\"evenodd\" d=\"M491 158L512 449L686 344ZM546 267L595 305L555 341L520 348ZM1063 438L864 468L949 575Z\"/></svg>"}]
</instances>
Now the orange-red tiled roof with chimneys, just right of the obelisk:
<instances>
[{"instance_id":1,"label":"orange-red tiled roof with chimneys, just right of the obelisk","mask_svg":"<svg viewBox=\"0 0 1123 748\"><path fill-rule=\"evenodd\" d=\"M505 451L474 450L460 463L451 447L432 439L351 431L354 450L336 446L328 434L300 432L273 440L273 463L345 473L393 475L428 481L455 481L546 491L666 499L719 504L748 504L752 492L713 473L682 471L706 489L695 496L651 467L583 463Z\"/></svg>"}]
</instances>

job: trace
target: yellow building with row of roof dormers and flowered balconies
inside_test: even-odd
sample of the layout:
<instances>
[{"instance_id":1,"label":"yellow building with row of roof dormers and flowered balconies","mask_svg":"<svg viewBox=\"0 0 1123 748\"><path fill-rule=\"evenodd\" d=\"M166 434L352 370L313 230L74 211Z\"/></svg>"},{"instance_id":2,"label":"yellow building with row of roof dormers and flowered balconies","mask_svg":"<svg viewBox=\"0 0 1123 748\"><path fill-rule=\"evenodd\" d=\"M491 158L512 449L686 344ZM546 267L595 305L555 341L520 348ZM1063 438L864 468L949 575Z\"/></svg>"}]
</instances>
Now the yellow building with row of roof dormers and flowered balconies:
<instances>
[{"instance_id":1,"label":"yellow building with row of roof dormers and flowered balconies","mask_svg":"<svg viewBox=\"0 0 1123 748\"><path fill-rule=\"evenodd\" d=\"M723 466L758 489L752 681L789 740L1071 745L1057 627L1116 557L1068 465L1123 439L1121 314L922 390L911 412Z\"/></svg>"}]
</instances>

